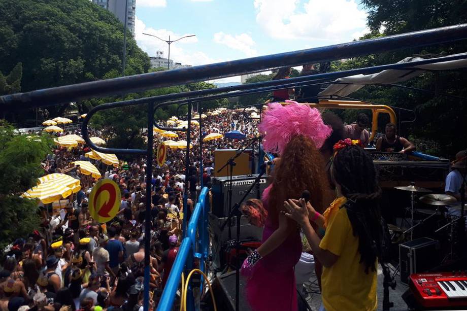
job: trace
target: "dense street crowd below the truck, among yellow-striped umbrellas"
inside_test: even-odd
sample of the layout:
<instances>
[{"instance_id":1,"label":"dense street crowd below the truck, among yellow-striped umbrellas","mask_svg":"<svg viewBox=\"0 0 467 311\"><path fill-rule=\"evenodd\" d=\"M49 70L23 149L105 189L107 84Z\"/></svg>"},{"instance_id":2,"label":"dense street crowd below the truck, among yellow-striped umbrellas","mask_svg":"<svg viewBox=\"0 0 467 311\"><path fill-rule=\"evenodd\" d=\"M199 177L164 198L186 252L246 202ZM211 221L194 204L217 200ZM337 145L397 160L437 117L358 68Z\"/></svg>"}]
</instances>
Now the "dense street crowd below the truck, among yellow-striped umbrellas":
<instances>
[{"instance_id":1,"label":"dense street crowd below the truck, among yellow-striped umbrellas","mask_svg":"<svg viewBox=\"0 0 467 311\"><path fill-rule=\"evenodd\" d=\"M140 310L142 309L144 257L150 253L152 307L168 279L181 241L183 212L193 209L203 184L210 186L214 171L214 150L235 149L241 141L221 139L200 143L207 134L236 129L246 138L257 134L256 120L241 111L222 111L192 126L190 166L185 171L185 149L169 149L166 162L153 167L152 193L146 193L146 159L120 160L118 167L85 156L91 149L55 146L43 160L44 175L62 173L80 180L81 189L67 197L60 210L42 206L44 223L29 236L15 240L5 250L0 272L0 309L4 310ZM162 122L161 125L168 126ZM79 130L64 134L80 134ZM186 139L177 132L177 140ZM101 136L91 131L90 136ZM104 137L105 138L105 137ZM154 135L154 150L169 138ZM199 171L203 159L203 173ZM91 161L102 178L115 181L121 191L117 216L108 223L97 223L89 215L89 194L98 181L84 175L76 160ZM154 161L156 163L156 161ZM189 187L183 206L184 187ZM144 247L146 197L151 195L151 244Z\"/></svg>"}]
</instances>

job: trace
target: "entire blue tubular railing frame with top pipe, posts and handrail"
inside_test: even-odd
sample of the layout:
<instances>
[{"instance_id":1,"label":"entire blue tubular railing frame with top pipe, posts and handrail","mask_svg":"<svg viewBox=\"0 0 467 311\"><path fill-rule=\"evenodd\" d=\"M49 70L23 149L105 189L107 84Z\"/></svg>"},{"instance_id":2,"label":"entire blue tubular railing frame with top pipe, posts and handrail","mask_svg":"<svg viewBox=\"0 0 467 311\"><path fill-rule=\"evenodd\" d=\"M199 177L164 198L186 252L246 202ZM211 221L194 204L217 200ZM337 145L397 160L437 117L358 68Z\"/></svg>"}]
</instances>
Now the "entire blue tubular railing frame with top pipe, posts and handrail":
<instances>
[{"instance_id":1,"label":"entire blue tubular railing frame with top pipe, posts and handrail","mask_svg":"<svg viewBox=\"0 0 467 311\"><path fill-rule=\"evenodd\" d=\"M396 49L414 48L421 46L428 46L432 44L446 43L456 40L467 39L467 24L459 24L448 27L441 27L436 29L427 29L422 31L415 31L410 33L396 34L394 36L381 37L376 39L368 39L361 41L354 41L349 43L318 47L313 49L293 51L281 54L266 55L260 57L253 57L247 59L240 59L229 62L222 62L216 64L208 64L202 66L194 66L189 68L180 68L171 71L163 71L156 73L148 73L136 76L121 77L115 79L93 81L75 85L67 85L54 87L44 90L37 90L25 93L18 93L12 95L0 96L0 112L16 110L16 109L30 109L37 107L45 107L51 105L58 105L59 103L67 103L76 100L89 99L103 96L114 96L125 94L135 91L144 91L147 89L154 89L164 86L173 86L187 84L197 81L207 81L219 78L226 78L249 74L253 72L261 72L270 70L271 68L278 68L282 66L298 66L308 63L317 63L323 61L337 60L360 55L368 55L379 52L387 52ZM269 92L276 89L303 87L311 84L321 83L330 79L336 79L344 76L356 74L371 74L380 72L386 69L398 70L412 70L412 66L434 63L440 61L448 61L455 59L462 59L465 56L453 55L447 57L440 57L436 60L425 59L411 63L397 63L387 64L375 67L358 68L354 70L324 73L313 76L303 76L291 79L273 80L259 83L244 84L229 88L215 88L207 90L198 90L190 92L182 92L176 94L167 94L154 96L149 98L140 98L125 100L114 103L106 103L104 105L93 108L83 120L82 134L86 143L96 151L103 153L115 154L131 154L146 156L147 170L146 170L146 186L147 193L151 192L151 172L153 163L153 124L154 124L154 111L161 106L169 105L171 103L188 103L188 128L184 131L187 132L187 150L190 143L190 120L191 118L191 105L192 102L203 101L209 99L218 99L239 95L246 95L251 93ZM238 91L238 92L232 92ZM222 94L219 94L222 93ZM216 94L205 96L208 94ZM109 108L128 107L132 105L147 105L148 112L148 146L146 149L129 150L129 149L110 149L99 147L90 142L88 136L87 125L93 114L98 111ZM173 128L163 128L154 124L158 128L166 130L180 130ZM186 170L189 162L189 154L186 157ZM188 171L186 172L188 177ZM185 186L187 189L187 185ZM201 196L198 199L193 214L190 217L190 211L186 204L187 190L184 195L184 206L186 208L184 216L184 239L179 249L177 258L172 267L168 283L162 293L158 310L170 310L175 300L177 287L180 280L180 275L183 269L191 269L196 260L199 260L199 268L204 270L204 260L207 257L208 250L208 190L203 188ZM145 232L150 232L150 204L151 197L147 196L148 209L146 213L146 228ZM186 221L189 221L186 225ZM185 229L186 227L186 229ZM199 235L197 238L196 234ZM150 241L149 234L145 237L145 248L149 250ZM144 293L144 309L148 310L149 301L149 252L145 256L145 293ZM194 298L191 288L188 287L187 299L189 299L188 308L194 309Z\"/></svg>"}]
</instances>

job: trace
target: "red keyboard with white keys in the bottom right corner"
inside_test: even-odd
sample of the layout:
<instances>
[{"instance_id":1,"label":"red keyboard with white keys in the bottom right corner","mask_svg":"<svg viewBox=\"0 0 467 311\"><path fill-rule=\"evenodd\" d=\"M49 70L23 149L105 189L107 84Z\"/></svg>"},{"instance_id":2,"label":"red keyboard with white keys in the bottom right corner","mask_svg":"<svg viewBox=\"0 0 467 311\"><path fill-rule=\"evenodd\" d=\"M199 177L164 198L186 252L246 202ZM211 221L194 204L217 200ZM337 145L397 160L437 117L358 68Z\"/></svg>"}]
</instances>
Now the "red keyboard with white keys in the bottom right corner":
<instances>
[{"instance_id":1,"label":"red keyboard with white keys in the bottom right corner","mask_svg":"<svg viewBox=\"0 0 467 311\"><path fill-rule=\"evenodd\" d=\"M411 274L410 288L426 308L467 306L465 271Z\"/></svg>"}]
</instances>

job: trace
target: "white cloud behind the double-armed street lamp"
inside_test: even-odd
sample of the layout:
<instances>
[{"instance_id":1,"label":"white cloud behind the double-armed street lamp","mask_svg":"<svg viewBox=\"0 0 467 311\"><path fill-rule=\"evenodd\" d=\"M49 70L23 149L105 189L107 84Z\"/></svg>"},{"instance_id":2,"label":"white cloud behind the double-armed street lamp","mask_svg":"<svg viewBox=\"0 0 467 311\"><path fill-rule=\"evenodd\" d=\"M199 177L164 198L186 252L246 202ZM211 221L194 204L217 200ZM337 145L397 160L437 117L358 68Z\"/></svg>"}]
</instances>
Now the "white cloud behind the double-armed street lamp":
<instances>
[{"instance_id":1,"label":"white cloud behind the double-armed street lamp","mask_svg":"<svg viewBox=\"0 0 467 311\"><path fill-rule=\"evenodd\" d=\"M154 34L155 36L168 40L169 36L171 40L187 36L189 33L175 33L168 29L154 29L151 27L146 27L146 24L136 17L135 19L135 39L138 46L148 53L149 56L155 56L156 51L164 51L164 56L167 57L168 45L154 37L146 36L145 33ZM196 37L185 38L180 41L177 41L174 44L171 44L170 47L170 59L173 59L176 62L181 62L182 64L188 65L204 65L209 63L215 63L223 61L222 59L214 59L206 55L204 52L196 51L192 46L192 43L198 42ZM184 49L184 46L190 46L189 49Z\"/></svg>"}]
</instances>

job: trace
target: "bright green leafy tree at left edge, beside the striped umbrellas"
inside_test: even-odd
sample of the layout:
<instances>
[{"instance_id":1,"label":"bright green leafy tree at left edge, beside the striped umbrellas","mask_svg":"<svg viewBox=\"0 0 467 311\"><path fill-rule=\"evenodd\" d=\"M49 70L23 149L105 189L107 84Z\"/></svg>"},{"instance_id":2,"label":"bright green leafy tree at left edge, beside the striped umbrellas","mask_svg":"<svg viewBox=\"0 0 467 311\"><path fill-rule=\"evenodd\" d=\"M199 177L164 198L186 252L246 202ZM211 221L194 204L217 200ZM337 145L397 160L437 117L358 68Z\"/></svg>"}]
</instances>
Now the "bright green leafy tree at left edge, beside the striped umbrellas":
<instances>
[{"instance_id":1,"label":"bright green leafy tree at left edge, beside the striped umbrellas","mask_svg":"<svg viewBox=\"0 0 467 311\"><path fill-rule=\"evenodd\" d=\"M38 202L19 195L44 174L41 161L52 148L47 134L34 139L0 121L0 249L39 228ZM21 226L12 226L19 224Z\"/></svg>"}]
</instances>

